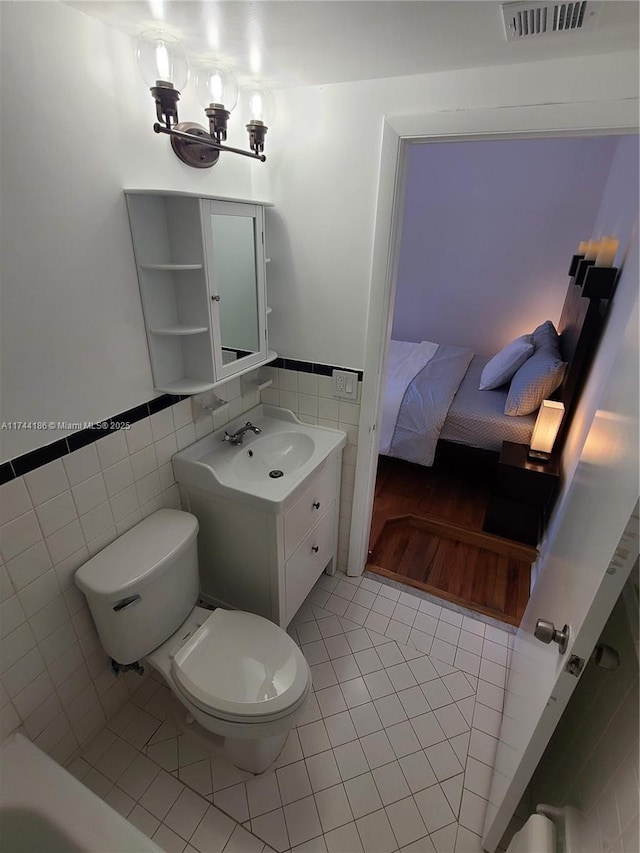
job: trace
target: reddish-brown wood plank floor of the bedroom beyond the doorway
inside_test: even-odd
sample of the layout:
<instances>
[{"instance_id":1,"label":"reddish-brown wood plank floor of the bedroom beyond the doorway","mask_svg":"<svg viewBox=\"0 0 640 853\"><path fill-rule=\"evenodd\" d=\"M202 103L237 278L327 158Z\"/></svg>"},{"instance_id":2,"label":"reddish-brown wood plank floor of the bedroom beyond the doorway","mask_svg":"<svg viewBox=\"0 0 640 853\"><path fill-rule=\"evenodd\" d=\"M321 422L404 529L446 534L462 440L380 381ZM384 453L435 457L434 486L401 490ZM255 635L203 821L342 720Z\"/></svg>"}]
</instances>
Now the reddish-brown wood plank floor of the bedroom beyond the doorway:
<instances>
[{"instance_id":1,"label":"reddish-brown wood plank floor of the bedroom beyond the doorway","mask_svg":"<svg viewBox=\"0 0 640 853\"><path fill-rule=\"evenodd\" d=\"M520 624L536 551L482 532L493 468L381 456L367 569Z\"/></svg>"}]
</instances>

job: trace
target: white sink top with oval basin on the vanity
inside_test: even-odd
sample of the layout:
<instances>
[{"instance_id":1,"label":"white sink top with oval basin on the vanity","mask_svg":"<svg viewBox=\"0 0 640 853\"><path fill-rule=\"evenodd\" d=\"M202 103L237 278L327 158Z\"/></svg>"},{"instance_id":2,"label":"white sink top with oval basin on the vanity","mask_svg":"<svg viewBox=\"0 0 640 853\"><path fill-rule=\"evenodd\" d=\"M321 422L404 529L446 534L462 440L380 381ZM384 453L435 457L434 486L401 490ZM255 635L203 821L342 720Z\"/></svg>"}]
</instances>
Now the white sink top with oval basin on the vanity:
<instances>
[{"instance_id":1,"label":"white sink top with oval basin on the vanity","mask_svg":"<svg viewBox=\"0 0 640 853\"><path fill-rule=\"evenodd\" d=\"M224 441L250 421L260 434L245 432L242 444ZM331 453L346 443L346 433L310 426L293 412L256 406L173 457L176 480L206 492L279 513Z\"/></svg>"}]
</instances>

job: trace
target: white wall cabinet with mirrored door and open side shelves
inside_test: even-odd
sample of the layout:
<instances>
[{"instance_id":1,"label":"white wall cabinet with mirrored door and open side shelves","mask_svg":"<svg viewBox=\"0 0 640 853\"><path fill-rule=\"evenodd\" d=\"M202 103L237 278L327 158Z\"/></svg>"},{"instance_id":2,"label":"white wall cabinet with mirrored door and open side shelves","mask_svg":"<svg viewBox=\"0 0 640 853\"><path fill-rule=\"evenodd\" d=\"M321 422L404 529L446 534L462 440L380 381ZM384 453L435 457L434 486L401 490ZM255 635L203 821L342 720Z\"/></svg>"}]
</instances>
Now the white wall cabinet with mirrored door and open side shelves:
<instances>
[{"instance_id":1,"label":"white wall cabinet with mirrored door and open side shelves","mask_svg":"<svg viewBox=\"0 0 640 853\"><path fill-rule=\"evenodd\" d=\"M198 394L273 360L265 204L125 195L156 391Z\"/></svg>"}]
</instances>

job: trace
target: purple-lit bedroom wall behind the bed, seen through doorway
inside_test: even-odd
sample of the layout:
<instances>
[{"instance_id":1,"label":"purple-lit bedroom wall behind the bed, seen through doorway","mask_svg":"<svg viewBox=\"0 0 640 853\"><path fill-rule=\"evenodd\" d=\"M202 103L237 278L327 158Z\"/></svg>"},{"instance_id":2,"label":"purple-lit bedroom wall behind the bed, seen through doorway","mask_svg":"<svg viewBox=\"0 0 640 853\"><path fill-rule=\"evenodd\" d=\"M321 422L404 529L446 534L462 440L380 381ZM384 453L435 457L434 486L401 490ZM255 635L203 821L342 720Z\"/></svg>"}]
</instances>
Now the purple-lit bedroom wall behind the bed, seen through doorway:
<instances>
[{"instance_id":1,"label":"purple-lit bedroom wall behind the bed, seen through doorway","mask_svg":"<svg viewBox=\"0 0 640 853\"><path fill-rule=\"evenodd\" d=\"M392 337L493 355L557 322L618 137L412 145Z\"/></svg>"}]
</instances>

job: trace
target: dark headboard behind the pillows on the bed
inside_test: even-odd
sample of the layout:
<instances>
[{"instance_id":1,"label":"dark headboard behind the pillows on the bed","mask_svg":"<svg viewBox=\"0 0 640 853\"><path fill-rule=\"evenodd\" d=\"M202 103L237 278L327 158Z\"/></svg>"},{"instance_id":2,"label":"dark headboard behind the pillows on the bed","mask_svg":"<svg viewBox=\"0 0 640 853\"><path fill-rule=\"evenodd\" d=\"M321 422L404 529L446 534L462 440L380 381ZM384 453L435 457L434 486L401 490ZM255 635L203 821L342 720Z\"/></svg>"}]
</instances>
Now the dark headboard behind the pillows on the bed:
<instances>
[{"instance_id":1,"label":"dark headboard behind the pillows on the bed","mask_svg":"<svg viewBox=\"0 0 640 853\"><path fill-rule=\"evenodd\" d=\"M594 282L581 274L584 272L584 269L579 269L577 275L569 280L558 323L560 353L563 361L568 362L562 385L553 395L554 399L563 402L565 407L565 417L556 443L558 450L561 450L564 445L582 388L598 349L613 296L611 286L594 287ZM585 291L590 295L585 296ZM606 298L603 298L603 295Z\"/></svg>"}]
</instances>

